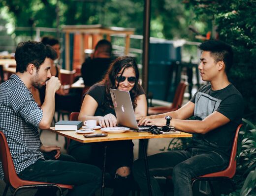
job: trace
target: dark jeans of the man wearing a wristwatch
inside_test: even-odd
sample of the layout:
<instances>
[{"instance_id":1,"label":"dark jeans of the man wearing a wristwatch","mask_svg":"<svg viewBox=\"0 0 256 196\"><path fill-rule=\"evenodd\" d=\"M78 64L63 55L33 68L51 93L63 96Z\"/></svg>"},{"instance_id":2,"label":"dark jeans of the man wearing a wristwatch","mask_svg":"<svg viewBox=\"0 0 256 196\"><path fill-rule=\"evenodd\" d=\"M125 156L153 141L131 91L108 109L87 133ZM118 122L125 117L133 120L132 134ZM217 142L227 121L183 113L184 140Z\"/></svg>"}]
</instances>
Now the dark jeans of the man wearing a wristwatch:
<instances>
[{"instance_id":1,"label":"dark jeans of the man wearing a wristwatch","mask_svg":"<svg viewBox=\"0 0 256 196\"><path fill-rule=\"evenodd\" d=\"M229 158L216 152L197 148L173 150L148 157L150 182L153 196L161 196L159 184L154 176L171 175L174 196L192 196L191 180L195 177L224 170ZM133 175L140 186L143 196L148 196L147 178L144 160L133 164Z\"/></svg>"}]
</instances>

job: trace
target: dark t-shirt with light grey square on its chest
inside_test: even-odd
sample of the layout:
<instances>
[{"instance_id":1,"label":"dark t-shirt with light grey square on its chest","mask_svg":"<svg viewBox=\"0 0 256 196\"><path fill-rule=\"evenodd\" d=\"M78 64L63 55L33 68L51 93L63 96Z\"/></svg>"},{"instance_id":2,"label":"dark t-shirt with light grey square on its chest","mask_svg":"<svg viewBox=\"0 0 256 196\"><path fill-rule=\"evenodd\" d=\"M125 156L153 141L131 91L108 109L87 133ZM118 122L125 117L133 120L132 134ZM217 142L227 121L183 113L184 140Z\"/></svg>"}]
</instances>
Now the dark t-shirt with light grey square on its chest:
<instances>
[{"instance_id":1,"label":"dark t-shirt with light grey square on its chest","mask_svg":"<svg viewBox=\"0 0 256 196\"><path fill-rule=\"evenodd\" d=\"M211 84L202 86L190 100L195 104L194 117L204 120L214 111L220 112L230 122L206 134L193 134L192 147L229 156L237 126L241 123L244 101L239 91L229 84L224 89L213 91Z\"/></svg>"}]
</instances>

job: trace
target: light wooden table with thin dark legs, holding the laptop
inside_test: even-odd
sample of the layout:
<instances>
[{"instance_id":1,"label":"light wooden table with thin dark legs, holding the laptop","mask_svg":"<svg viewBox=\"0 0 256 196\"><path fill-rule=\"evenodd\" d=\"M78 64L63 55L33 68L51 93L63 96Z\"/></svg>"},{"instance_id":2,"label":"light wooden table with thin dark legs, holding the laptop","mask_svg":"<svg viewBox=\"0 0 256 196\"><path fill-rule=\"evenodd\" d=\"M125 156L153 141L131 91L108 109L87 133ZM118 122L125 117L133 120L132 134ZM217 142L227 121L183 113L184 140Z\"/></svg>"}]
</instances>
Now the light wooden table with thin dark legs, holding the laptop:
<instances>
[{"instance_id":1,"label":"light wooden table with thin dark legs, holding the laptop","mask_svg":"<svg viewBox=\"0 0 256 196\"><path fill-rule=\"evenodd\" d=\"M154 135L148 132L133 132L127 131L124 133L107 133L106 137L95 137L95 138L85 138L84 134L78 134L75 131L55 131L55 127L50 127L51 131L58 133L66 138L81 142L81 143L92 143L92 142L110 142L110 141L118 141L118 140L135 140L142 139L142 146L144 151L144 161L145 161L145 169L147 175L148 189L149 195L152 196L151 186L150 186L150 176L149 176L149 167L148 167L148 159L147 159L147 150L145 148L143 139L153 139L153 138L184 138L184 137L192 137L192 134L181 132L180 134L160 134ZM99 129L94 133L102 133ZM104 178L105 178L105 164L106 164L106 149L105 146L104 151L104 162L103 162L103 172L102 172L102 187L101 187L101 196L104 195Z\"/></svg>"}]
</instances>

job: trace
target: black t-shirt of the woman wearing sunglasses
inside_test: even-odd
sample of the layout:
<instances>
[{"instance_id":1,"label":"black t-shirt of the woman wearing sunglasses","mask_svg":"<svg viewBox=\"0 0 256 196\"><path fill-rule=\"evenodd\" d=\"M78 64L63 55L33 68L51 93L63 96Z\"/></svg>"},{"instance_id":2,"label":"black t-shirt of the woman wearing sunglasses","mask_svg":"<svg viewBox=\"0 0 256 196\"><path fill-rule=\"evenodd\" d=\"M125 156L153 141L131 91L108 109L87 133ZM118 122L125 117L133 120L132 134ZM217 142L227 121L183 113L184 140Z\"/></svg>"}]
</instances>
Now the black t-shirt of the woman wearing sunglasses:
<instances>
[{"instance_id":1,"label":"black t-shirt of the woman wearing sunglasses","mask_svg":"<svg viewBox=\"0 0 256 196\"><path fill-rule=\"evenodd\" d=\"M97 103L98 107L96 109L94 116L105 116L106 114L113 114L116 116L115 110L112 107L106 106L106 87L102 83L96 83L93 85L86 94L93 97ZM138 96L145 94L143 88L139 85Z\"/></svg>"}]
</instances>

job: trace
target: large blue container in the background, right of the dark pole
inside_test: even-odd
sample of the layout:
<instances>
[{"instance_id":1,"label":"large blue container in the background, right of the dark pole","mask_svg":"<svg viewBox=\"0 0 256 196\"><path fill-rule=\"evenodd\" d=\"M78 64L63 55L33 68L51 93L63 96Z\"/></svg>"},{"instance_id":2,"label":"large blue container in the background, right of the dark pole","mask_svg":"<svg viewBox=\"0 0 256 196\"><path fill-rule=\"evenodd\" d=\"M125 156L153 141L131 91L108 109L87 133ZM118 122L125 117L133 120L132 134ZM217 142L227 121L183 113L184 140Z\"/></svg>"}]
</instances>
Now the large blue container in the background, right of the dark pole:
<instances>
[{"instance_id":1,"label":"large blue container in the background, right of the dark pole","mask_svg":"<svg viewBox=\"0 0 256 196\"><path fill-rule=\"evenodd\" d=\"M148 91L154 99L173 101L177 61L181 62L181 47L174 48L172 41L150 43Z\"/></svg>"}]
</instances>

